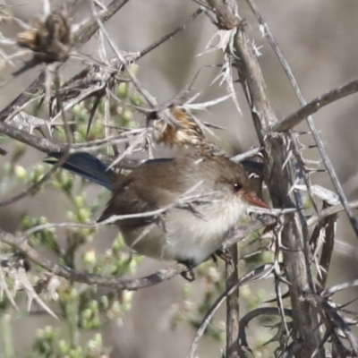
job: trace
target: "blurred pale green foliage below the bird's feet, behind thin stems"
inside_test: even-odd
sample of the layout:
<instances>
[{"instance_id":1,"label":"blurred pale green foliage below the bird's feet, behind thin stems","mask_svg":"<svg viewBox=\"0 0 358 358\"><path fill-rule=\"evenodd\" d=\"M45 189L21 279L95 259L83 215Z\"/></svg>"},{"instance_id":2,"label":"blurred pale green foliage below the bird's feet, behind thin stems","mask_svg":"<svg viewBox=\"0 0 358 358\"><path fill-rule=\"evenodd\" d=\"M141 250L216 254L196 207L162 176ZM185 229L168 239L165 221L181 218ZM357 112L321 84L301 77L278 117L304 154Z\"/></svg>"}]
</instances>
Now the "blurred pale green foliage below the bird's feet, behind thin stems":
<instances>
[{"instance_id":1,"label":"blurred pale green foliage below the bird's feet, behind thin stems","mask_svg":"<svg viewBox=\"0 0 358 358\"><path fill-rule=\"evenodd\" d=\"M250 251L256 251L250 243L255 243L258 234L253 234L248 238L245 244L239 245L239 250L243 254ZM261 251L256 255L250 257L249 260L240 261L240 277L248 273L252 268L257 268L265 262L271 262L273 254L271 251ZM179 325L190 325L197 330L208 311L212 308L217 300L217 297L226 290L225 280L225 264L222 260L217 261L214 265L211 260L202 263L196 268L197 280L200 280L200 299L192 297L192 285L186 284L183 286L183 303L177 304L170 312L169 327L177 328ZM267 299L267 292L264 290L254 290L250 286L242 286L240 288L240 313L243 315L244 311L251 311ZM197 296L195 294L194 296ZM222 312L221 316L225 314ZM217 314L220 316L220 314ZM277 317L265 316L266 323L276 322ZM216 340L224 345L226 342L226 323L224 320L211 320L208 328L205 331L205 336L211 340ZM259 332L258 336L252 337L254 345L256 346L255 353L263 353L263 356L269 356L267 348L263 346L272 338L269 332ZM269 351L269 350L268 350ZM270 351L269 351L270 352Z\"/></svg>"}]
</instances>

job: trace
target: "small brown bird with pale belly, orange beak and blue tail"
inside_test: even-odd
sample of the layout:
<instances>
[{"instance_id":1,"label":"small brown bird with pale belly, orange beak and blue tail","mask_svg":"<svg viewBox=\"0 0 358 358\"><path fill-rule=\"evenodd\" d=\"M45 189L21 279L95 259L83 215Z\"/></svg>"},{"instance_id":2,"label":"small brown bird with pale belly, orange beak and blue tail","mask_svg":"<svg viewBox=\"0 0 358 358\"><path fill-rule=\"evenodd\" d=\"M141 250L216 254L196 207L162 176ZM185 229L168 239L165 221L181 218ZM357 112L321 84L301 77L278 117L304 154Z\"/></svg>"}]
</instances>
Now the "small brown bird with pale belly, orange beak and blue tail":
<instances>
[{"instance_id":1,"label":"small brown bird with pale belly, orange beak and blue tail","mask_svg":"<svg viewBox=\"0 0 358 358\"><path fill-rule=\"evenodd\" d=\"M62 156L51 153L45 161L55 164ZM248 205L268 208L249 190L243 166L223 156L149 160L127 176L107 169L89 153L72 154L63 167L111 190L98 221L134 215L115 225L129 247L159 260L199 264L220 249Z\"/></svg>"}]
</instances>

